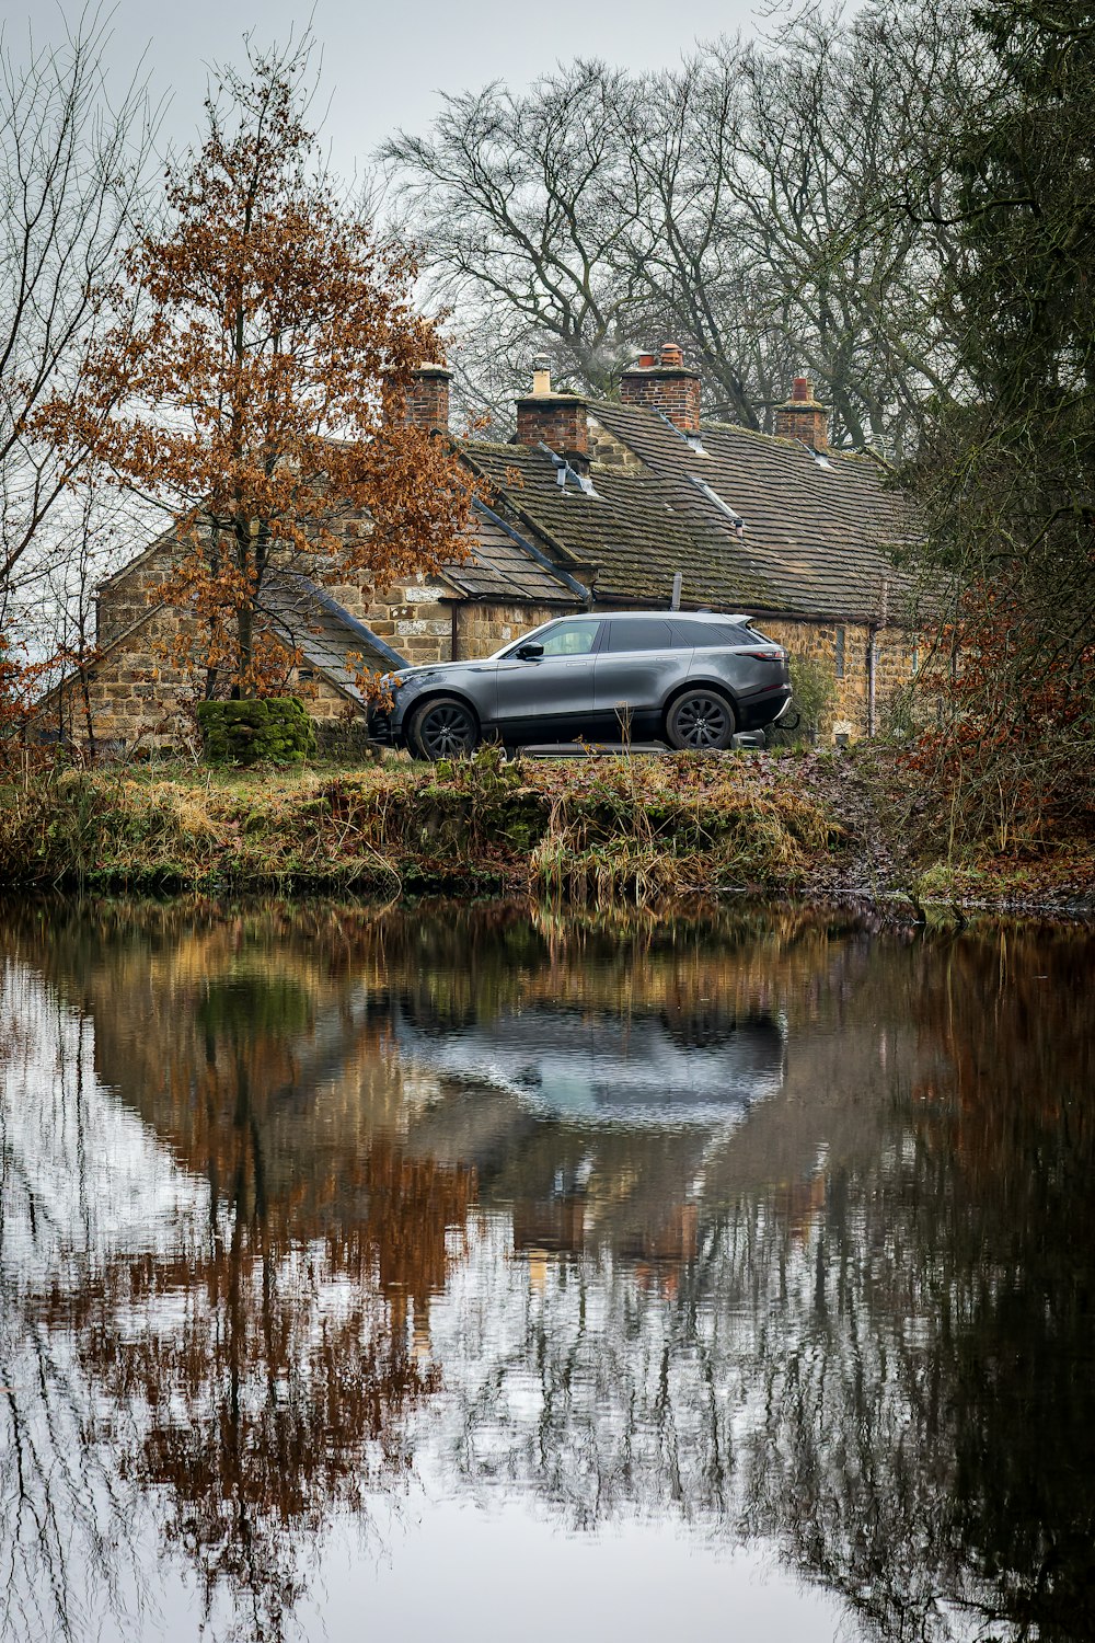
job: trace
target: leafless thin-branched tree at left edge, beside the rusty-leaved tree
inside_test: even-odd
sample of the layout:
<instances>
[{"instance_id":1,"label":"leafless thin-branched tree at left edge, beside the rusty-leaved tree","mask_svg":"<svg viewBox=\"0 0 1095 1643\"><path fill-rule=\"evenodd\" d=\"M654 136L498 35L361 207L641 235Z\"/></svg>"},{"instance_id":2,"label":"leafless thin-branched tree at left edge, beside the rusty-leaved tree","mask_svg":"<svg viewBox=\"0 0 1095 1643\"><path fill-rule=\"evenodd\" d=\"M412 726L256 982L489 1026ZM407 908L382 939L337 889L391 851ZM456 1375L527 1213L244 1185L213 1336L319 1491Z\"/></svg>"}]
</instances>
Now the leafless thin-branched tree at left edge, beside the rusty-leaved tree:
<instances>
[{"instance_id":1,"label":"leafless thin-branched tree at left edge, beside the rusty-leaved tree","mask_svg":"<svg viewBox=\"0 0 1095 1643\"><path fill-rule=\"evenodd\" d=\"M85 445L59 452L34 414L79 383L149 200L158 117L136 79L112 102L108 38L90 10L56 48L0 39L0 631L79 524L62 499Z\"/></svg>"}]
</instances>

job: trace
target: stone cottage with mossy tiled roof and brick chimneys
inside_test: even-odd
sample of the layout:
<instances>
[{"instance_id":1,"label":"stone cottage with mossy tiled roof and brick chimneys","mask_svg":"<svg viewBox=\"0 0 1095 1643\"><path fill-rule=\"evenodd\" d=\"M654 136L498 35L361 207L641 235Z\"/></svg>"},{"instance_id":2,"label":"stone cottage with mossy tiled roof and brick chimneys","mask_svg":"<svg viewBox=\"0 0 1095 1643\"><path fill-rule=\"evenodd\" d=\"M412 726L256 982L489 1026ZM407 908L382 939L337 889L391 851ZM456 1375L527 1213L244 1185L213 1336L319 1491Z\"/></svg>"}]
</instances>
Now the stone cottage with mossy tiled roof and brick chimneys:
<instances>
[{"instance_id":1,"label":"stone cottage with mossy tiled roof and brick chimneys","mask_svg":"<svg viewBox=\"0 0 1095 1643\"><path fill-rule=\"evenodd\" d=\"M450 373L425 365L405 414L448 432ZM266 619L300 659L292 687L328 725L361 720L355 659L379 670L488 656L563 611L742 611L793 654L831 665L836 739L872 734L885 695L916 665L909 591L891 552L906 504L870 455L829 449L806 378L775 435L701 417L699 376L667 343L640 355L619 399L552 388L538 361L517 401L514 440L453 439L476 476L468 557L445 575L320 588L300 575L269 591ZM171 744L194 680L164 660L182 614L156 600L172 537L99 588L97 659L43 702L76 739Z\"/></svg>"}]
</instances>

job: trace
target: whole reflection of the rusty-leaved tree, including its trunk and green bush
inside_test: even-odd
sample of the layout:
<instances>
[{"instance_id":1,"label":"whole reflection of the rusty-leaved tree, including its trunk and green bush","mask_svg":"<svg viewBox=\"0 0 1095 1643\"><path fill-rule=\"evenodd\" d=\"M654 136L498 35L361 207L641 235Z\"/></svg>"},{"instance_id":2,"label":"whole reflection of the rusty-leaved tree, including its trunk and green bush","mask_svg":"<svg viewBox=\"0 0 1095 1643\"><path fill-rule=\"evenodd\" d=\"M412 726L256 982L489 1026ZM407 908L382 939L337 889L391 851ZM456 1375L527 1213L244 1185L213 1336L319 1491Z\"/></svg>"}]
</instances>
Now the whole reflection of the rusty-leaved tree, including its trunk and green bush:
<instances>
[{"instance_id":1,"label":"whole reflection of the rusty-leaved tree, including its trunk and green bush","mask_svg":"<svg viewBox=\"0 0 1095 1643\"><path fill-rule=\"evenodd\" d=\"M64 1510L48 1498L57 1456L30 1457L49 1518L39 1561L57 1602L72 1585L67 1520L82 1513L95 1539L99 1474L118 1495L161 1503L166 1546L192 1562L207 1615L227 1599L245 1638L282 1633L309 1538L338 1512L361 1513L405 1469L405 1418L437 1388L422 1323L445 1285L447 1229L463 1226L474 1185L466 1170L376 1139L325 1175L273 1186L268 1139L292 1088L302 1009L284 981L261 992L254 974L223 994L205 989L176 1024L202 1040L189 1089L172 1076L177 1063L164 1070L158 1116L176 1155L208 1181L205 1224L179 1222L154 1249L92 1244L76 1272L54 1267L44 1288L25 1286L20 1331L46 1342L66 1364L71 1400L97 1411L77 1423L79 1490L66 1484ZM48 1439L56 1423L43 1415ZM110 1436L121 1431L115 1464ZM20 1484L21 1470L20 1457ZM33 1594L34 1581L20 1590ZM54 1630L43 1622L38 1635Z\"/></svg>"}]
</instances>

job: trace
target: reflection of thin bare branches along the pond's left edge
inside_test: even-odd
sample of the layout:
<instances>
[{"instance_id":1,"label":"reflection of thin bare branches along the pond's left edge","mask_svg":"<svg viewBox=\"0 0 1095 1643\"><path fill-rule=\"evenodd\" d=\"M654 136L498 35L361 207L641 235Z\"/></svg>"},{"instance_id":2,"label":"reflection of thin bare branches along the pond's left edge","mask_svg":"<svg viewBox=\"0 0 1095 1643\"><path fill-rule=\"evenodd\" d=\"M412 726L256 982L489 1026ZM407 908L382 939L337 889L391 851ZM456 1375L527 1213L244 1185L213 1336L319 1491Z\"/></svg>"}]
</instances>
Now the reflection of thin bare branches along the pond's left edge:
<instances>
[{"instance_id":1,"label":"reflection of thin bare branches along the pond's left edge","mask_svg":"<svg viewBox=\"0 0 1095 1643\"><path fill-rule=\"evenodd\" d=\"M140 1571L118 1561L136 1500L97 1444L100 1411L57 1285L59 1259L90 1270L90 1037L87 1020L0 968L0 1638L13 1643L76 1638L90 1613L121 1620L141 1594ZM76 1199L64 1224L57 1178Z\"/></svg>"}]
</instances>

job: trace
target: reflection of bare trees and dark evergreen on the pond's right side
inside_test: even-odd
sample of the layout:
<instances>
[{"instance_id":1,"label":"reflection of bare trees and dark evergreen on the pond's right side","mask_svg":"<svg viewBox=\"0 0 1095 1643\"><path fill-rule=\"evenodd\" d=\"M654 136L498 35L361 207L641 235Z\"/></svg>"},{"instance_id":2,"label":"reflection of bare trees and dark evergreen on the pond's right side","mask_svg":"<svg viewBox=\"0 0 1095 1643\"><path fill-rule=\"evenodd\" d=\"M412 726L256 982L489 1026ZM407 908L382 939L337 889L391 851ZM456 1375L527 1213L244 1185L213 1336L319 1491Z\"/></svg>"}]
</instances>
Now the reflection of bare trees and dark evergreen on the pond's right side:
<instances>
[{"instance_id":1,"label":"reflection of bare trees and dark evergreen on the pond's right side","mask_svg":"<svg viewBox=\"0 0 1095 1643\"><path fill-rule=\"evenodd\" d=\"M1092 956L1044 932L875 953L887 1130L813 1209L708 1181L683 1268L530 1263L504 1334L438 1323L470 1487L775 1535L885 1638L1095 1636Z\"/></svg>"}]
</instances>

